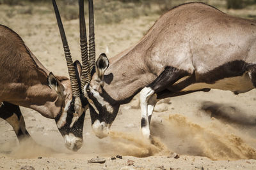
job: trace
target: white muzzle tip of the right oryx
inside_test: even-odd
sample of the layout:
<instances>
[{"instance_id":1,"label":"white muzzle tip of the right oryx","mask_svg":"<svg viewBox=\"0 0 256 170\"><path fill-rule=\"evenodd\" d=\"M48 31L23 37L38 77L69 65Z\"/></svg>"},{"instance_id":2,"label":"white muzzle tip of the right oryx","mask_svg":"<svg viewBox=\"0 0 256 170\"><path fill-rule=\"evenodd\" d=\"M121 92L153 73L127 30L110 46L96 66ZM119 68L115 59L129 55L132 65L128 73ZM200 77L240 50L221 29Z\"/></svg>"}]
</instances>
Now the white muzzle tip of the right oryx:
<instances>
[{"instance_id":1,"label":"white muzzle tip of the right oryx","mask_svg":"<svg viewBox=\"0 0 256 170\"><path fill-rule=\"evenodd\" d=\"M98 138L102 139L108 136L109 127L110 125L106 124L105 122L100 123L99 120L95 120L92 125L92 130Z\"/></svg>"}]
</instances>

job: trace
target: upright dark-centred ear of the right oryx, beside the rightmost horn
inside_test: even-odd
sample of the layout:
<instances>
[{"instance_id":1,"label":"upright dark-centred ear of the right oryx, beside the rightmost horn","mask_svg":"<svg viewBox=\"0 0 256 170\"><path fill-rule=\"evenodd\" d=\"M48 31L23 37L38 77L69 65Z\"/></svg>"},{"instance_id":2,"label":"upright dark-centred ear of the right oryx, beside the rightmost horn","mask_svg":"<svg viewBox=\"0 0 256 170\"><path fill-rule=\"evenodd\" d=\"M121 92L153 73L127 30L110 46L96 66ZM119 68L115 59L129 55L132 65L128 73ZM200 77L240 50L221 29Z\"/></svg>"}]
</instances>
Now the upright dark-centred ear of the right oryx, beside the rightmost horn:
<instances>
[{"instance_id":1,"label":"upright dark-centred ear of the right oryx, beside the rightmost horn","mask_svg":"<svg viewBox=\"0 0 256 170\"><path fill-rule=\"evenodd\" d=\"M96 66L97 66L97 69L96 69L97 76L99 80L102 80L104 76L104 72L106 71L106 69L108 69L108 66L109 66L108 57L106 56L105 53L100 54L99 58L97 59Z\"/></svg>"}]
</instances>

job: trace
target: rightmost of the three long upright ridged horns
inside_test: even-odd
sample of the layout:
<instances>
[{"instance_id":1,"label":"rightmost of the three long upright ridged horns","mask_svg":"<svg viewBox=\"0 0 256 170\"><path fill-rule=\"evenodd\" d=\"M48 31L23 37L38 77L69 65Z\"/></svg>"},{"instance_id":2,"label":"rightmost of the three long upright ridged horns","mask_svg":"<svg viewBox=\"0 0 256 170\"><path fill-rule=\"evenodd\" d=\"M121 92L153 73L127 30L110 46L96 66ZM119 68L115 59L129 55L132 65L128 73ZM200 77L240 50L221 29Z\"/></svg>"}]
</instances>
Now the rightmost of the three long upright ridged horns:
<instances>
[{"instance_id":1,"label":"rightmost of the three long upright ridged horns","mask_svg":"<svg viewBox=\"0 0 256 170\"><path fill-rule=\"evenodd\" d=\"M89 63L92 73L95 67L95 41L94 41L94 17L93 17L93 0L88 0L89 6Z\"/></svg>"}]
</instances>

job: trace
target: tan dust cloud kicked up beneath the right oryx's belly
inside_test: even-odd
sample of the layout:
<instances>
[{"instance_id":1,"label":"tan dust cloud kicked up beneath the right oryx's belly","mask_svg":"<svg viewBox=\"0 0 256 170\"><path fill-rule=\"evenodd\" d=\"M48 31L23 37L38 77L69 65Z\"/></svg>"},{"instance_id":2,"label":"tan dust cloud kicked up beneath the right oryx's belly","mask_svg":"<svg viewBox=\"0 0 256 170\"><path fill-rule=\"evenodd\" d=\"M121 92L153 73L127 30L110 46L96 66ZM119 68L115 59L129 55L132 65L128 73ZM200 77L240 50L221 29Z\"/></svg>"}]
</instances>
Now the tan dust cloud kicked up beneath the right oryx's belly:
<instances>
[{"instance_id":1,"label":"tan dust cloud kicked up beneath the right oryx's belly","mask_svg":"<svg viewBox=\"0 0 256 170\"><path fill-rule=\"evenodd\" d=\"M225 124L214 117L200 120L169 115L162 123L153 122L152 134L161 138L170 150L181 154L212 160L256 159L255 139L244 133L248 129Z\"/></svg>"}]
</instances>

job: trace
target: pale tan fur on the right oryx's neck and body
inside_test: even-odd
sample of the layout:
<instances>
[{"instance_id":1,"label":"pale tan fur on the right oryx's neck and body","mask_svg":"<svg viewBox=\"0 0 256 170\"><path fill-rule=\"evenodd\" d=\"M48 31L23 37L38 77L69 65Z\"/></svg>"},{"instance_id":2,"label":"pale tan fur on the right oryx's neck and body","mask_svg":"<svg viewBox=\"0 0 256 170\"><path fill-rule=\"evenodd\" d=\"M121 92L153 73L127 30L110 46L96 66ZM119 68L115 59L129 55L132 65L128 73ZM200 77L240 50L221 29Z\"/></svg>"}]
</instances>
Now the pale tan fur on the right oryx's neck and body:
<instances>
[{"instance_id":1,"label":"pale tan fur on the right oryx's neck and body","mask_svg":"<svg viewBox=\"0 0 256 170\"><path fill-rule=\"evenodd\" d=\"M184 4L161 16L137 45L109 59L104 80L111 83L104 83L104 90L122 101L154 81L166 66L197 75L233 60L255 63L255 54L255 20L203 3Z\"/></svg>"}]
</instances>

